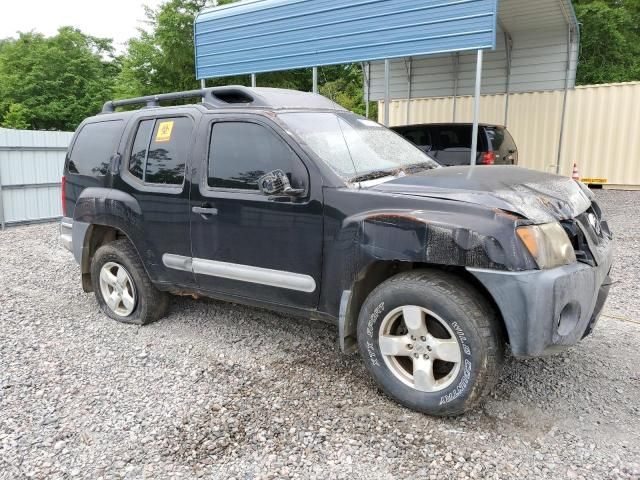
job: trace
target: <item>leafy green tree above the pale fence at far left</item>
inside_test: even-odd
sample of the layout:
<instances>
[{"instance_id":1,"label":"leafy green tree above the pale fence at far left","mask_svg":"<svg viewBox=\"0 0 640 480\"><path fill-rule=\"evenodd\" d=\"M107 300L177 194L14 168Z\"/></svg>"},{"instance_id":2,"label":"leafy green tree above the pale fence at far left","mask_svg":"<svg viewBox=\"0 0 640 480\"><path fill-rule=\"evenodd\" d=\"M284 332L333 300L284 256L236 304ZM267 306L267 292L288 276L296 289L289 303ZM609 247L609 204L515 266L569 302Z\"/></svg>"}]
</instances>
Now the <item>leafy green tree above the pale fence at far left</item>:
<instances>
[{"instance_id":1,"label":"leafy green tree above the pale fence at far left","mask_svg":"<svg viewBox=\"0 0 640 480\"><path fill-rule=\"evenodd\" d=\"M118 62L111 40L62 27L57 35L21 33L0 46L0 120L21 105L29 128L73 130L113 92ZM12 121L12 120L11 120Z\"/></svg>"}]
</instances>

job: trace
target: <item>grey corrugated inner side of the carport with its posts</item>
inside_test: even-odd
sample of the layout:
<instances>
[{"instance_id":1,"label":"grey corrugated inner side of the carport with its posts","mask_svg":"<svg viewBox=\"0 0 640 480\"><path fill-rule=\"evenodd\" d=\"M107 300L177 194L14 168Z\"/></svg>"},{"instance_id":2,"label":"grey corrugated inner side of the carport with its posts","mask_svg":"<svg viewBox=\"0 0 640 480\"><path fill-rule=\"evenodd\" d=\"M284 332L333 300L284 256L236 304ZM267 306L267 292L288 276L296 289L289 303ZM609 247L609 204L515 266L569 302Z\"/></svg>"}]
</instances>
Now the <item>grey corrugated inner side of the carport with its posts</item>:
<instances>
[{"instance_id":1,"label":"grey corrugated inner side of the carport with its posts","mask_svg":"<svg viewBox=\"0 0 640 480\"><path fill-rule=\"evenodd\" d=\"M580 29L570 0L501 0L496 48L485 49L481 75L478 75L478 56L472 52L414 56L411 98L453 97L452 121L455 122L458 97L474 95L477 105L479 93L504 93L504 124L507 125L511 94L564 90L555 164L559 172L566 98L575 86L579 43ZM385 103L409 100L406 95L409 78L402 59L391 61L388 77L384 62L372 62L369 68L369 81L365 85L368 98ZM478 84L481 84L480 91ZM474 118L477 119L478 114L476 108ZM475 159L474 152L472 157Z\"/></svg>"}]
</instances>

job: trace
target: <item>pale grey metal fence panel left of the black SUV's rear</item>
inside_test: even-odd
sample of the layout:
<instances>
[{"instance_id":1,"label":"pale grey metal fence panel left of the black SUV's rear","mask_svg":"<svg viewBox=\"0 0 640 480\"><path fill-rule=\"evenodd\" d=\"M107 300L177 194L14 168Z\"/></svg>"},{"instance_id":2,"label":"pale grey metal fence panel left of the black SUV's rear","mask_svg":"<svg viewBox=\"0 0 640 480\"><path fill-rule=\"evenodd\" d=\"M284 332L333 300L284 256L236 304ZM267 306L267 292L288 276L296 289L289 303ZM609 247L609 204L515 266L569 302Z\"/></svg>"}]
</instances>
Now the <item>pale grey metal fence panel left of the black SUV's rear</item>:
<instances>
[{"instance_id":1,"label":"pale grey metal fence panel left of the black SUV's rear","mask_svg":"<svg viewBox=\"0 0 640 480\"><path fill-rule=\"evenodd\" d=\"M4 222L59 217L60 178L70 132L0 128L0 188ZM0 215L0 218L2 215Z\"/></svg>"}]
</instances>

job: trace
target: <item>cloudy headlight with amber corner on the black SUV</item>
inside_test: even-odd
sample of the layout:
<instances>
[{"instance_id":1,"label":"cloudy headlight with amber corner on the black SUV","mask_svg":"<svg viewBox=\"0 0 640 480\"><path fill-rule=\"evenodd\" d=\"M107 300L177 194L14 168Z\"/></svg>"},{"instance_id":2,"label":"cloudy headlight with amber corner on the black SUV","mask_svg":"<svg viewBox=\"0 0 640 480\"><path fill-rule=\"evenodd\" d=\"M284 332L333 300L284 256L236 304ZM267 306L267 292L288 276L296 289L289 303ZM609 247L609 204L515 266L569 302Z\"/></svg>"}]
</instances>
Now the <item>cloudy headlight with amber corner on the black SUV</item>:
<instances>
[{"instance_id":1,"label":"cloudy headlight with amber corner on the black SUV","mask_svg":"<svg viewBox=\"0 0 640 480\"><path fill-rule=\"evenodd\" d=\"M576 261L571 240L558 222L519 227L516 231L538 268L544 270Z\"/></svg>"}]
</instances>

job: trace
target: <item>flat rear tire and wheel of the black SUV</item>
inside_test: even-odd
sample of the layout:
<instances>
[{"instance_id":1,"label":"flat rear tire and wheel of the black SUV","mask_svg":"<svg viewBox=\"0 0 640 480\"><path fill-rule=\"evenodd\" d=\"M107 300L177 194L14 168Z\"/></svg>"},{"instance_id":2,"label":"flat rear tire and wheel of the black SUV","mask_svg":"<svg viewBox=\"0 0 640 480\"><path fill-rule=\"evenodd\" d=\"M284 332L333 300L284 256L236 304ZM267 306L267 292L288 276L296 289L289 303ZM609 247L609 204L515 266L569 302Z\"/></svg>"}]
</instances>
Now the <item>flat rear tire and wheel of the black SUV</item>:
<instances>
[{"instance_id":1,"label":"flat rear tire and wheel of the black SUV","mask_svg":"<svg viewBox=\"0 0 640 480\"><path fill-rule=\"evenodd\" d=\"M98 249L91 260L91 283L102 311L118 322L146 325L169 308L169 295L153 286L127 239Z\"/></svg>"}]
</instances>

